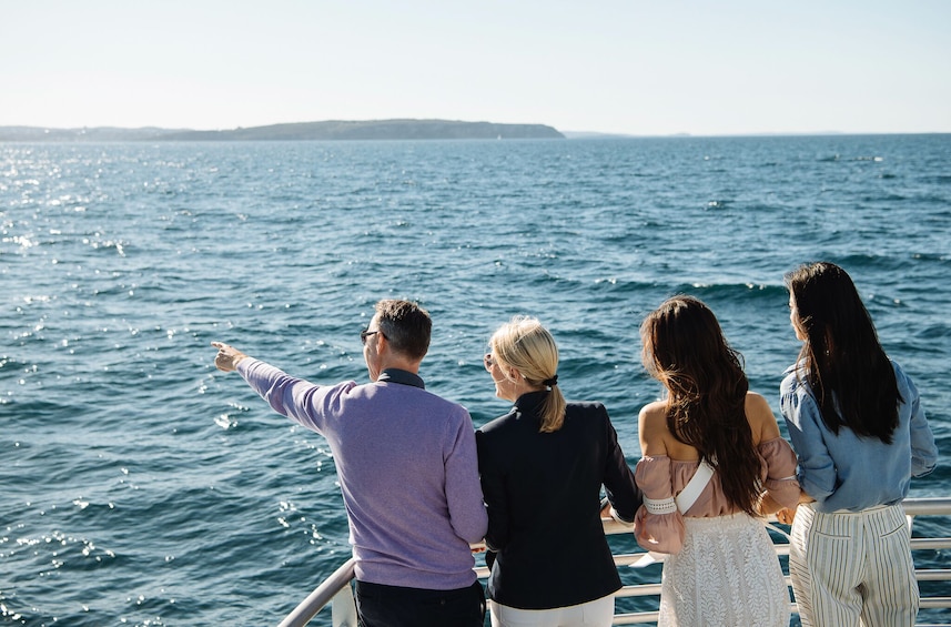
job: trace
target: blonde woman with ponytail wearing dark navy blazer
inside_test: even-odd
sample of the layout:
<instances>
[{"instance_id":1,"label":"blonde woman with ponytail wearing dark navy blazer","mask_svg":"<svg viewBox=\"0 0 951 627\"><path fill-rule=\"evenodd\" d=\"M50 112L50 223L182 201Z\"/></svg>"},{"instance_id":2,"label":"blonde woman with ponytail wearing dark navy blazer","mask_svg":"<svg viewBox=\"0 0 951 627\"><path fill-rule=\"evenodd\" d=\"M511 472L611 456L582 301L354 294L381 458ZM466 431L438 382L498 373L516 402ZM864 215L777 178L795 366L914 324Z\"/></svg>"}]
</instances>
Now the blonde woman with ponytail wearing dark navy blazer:
<instances>
[{"instance_id":1,"label":"blonde woman with ponytail wearing dark navy blazer","mask_svg":"<svg viewBox=\"0 0 951 627\"><path fill-rule=\"evenodd\" d=\"M566 403L558 347L534 317L489 341L485 367L512 409L476 432L488 507L492 624L606 627L620 578L600 520L631 522L640 494L600 403Z\"/></svg>"}]
</instances>

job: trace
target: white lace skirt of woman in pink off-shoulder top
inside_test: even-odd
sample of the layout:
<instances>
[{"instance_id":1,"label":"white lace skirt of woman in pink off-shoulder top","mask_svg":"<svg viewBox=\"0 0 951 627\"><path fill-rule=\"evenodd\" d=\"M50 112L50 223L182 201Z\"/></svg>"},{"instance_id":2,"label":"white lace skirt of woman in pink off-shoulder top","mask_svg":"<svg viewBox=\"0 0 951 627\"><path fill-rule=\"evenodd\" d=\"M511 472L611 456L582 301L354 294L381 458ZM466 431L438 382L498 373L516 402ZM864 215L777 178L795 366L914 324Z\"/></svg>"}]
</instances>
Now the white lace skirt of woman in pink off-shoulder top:
<instances>
[{"instance_id":1,"label":"white lace skirt of woman in pink off-shoulder top","mask_svg":"<svg viewBox=\"0 0 951 627\"><path fill-rule=\"evenodd\" d=\"M664 564L658 627L789 627L789 591L762 523L684 520L684 548Z\"/></svg>"}]
</instances>

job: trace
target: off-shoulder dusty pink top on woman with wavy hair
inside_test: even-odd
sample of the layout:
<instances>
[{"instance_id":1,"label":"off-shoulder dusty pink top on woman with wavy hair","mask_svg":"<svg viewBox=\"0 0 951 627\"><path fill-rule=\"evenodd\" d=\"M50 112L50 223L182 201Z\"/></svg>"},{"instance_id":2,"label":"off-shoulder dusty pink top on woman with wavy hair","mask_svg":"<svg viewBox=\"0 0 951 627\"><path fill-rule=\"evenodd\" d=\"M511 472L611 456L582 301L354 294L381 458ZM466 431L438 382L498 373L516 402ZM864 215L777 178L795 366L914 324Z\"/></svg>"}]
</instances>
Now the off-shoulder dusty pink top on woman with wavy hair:
<instances>
[{"instance_id":1,"label":"off-shoulder dusty pink top on woman with wavy hair","mask_svg":"<svg viewBox=\"0 0 951 627\"><path fill-rule=\"evenodd\" d=\"M799 482L796 481L796 453L789 443L777 437L761 442L757 453L762 459L762 479L766 492L783 507L799 503ZM699 461L680 462L666 455L643 457L635 469L635 481L650 499L671 498L686 487L697 472ZM717 473L700 493L686 514L674 510L669 514L652 514L641 505L635 519L637 543L647 550L676 554L684 544L684 516L708 518L727 516L737 510L724 495Z\"/></svg>"}]
</instances>

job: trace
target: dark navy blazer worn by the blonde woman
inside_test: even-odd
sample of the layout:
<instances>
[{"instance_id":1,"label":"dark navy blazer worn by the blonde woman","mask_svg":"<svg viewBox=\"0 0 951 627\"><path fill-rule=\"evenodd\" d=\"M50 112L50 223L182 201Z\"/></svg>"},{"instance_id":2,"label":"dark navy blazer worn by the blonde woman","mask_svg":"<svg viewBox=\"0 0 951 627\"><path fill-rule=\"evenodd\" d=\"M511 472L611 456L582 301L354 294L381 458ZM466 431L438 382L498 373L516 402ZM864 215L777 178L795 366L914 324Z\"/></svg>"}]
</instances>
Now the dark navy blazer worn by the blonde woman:
<instances>
[{"instance_id":1,"label":"dark navy blazer worn by the blonde woman","mask_svg":"<svg viewBox=\"0 0 951 627\"><path fill-rule=\"evenodd\" d=\"M488 507L488 596L509 607L587 603L621 587L600 520L605 486L634 520L641 494L600 403L569 403L565 424L540 433L547 391L524 394L476 432Z\"/></svg>"}]
</instances>

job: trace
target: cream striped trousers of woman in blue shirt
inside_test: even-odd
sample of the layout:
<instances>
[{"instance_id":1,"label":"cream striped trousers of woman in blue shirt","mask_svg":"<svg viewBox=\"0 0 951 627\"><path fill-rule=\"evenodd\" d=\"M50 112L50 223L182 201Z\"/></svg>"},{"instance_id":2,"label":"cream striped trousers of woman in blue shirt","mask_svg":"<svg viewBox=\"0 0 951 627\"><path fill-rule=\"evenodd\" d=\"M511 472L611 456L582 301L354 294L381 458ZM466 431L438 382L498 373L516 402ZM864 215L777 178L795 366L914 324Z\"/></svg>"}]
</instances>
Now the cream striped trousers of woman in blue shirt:
<instances>
[{"instance_id":1,"label":"cream striped trousers of woman in blue shirt","mask_svg":"<svg viewBox=\"0 0 951 627\"><path fill-rule=\"evenodd\" d=\"M803 627L912 627L918 582L901 505L858 513L799 506L789 576Z\"/></svg>"}]
</instances>

